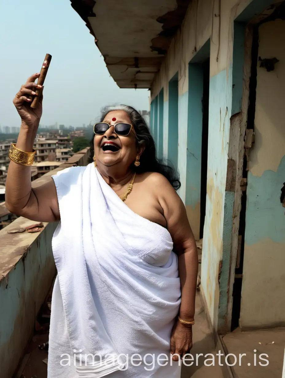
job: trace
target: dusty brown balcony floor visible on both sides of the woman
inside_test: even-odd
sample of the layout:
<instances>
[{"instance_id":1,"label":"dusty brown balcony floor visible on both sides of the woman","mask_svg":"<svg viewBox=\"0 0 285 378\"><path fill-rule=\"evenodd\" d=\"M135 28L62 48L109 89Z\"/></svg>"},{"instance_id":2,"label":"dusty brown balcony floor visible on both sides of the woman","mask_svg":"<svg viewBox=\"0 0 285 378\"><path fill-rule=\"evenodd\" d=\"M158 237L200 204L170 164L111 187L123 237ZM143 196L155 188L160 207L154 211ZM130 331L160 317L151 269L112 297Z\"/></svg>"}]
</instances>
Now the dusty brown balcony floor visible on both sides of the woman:
<instances>
[{"instance_id":1,"label":"dusty brown balcony floor visible on both sides of the woman","mask_svg":"<svg viewBox=\"0 0 285 378\"><path fill-rule=\"evenodd\" d=\"M200 276L201 249L198 249L198 253ZM51 291L49 297L51 297ZM227 376L229 378L281 378L284 358L285 328L252 332L240 332L240 330L237 329L223 336L221 339L224 350L221 350L221 353L233 353L237 356L237 364L229 369L231 371L224 369L224 367L222 371L222 367L218 364L217 352L199 291L197 291L196 295L195 322L193 326L193 348L190 352L194 357L194 363L192 366L182 365L181 378L224 378ZM34 335L26 351L25 358L22 361L22 366L16 374L16 378L47 378L47 365L43 360L47 358L48 352L38 348L38 345L47 340L48 332L44 329ZM254 349L256 349L256 353L254 353ZM199 356L197 364L196 355L200 353L202 356ZM211 353L215 356L214 366L206 366L204 364L205 355L207 353ZM241 366L239 366L239 354L242 353L246 353L246 356L242 357ZM259 359L261 353L268 355L268 366L260 366L259 362L262 364L266 363L266 361ZM256 366L254 366L254 354L256 354ZM209 359L210 356L206 358ZM232 363L230 358L228 361ZM266 356L263 356L263 358L266 358ZM221 363L224 363L223 359ZM208 364L210 364L210 362L208 362ZM248 364L250 364L250 366Z\"/></svg>"}]
</instances>

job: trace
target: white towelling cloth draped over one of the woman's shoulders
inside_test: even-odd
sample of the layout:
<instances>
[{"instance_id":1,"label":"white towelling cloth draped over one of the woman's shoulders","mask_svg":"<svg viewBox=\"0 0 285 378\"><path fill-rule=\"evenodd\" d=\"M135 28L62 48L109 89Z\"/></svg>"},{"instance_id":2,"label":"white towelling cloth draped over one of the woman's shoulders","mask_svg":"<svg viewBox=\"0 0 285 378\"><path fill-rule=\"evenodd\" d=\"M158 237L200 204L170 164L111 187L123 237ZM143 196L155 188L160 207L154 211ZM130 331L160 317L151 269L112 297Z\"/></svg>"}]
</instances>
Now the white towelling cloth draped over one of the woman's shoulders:
<instances>
[{"instance_id":1,"label":"white towelling cloth draped over one of the woman's shoulders","mask_svg":"<svg viewBox=\"0 0 285 378\"><path fill-rule=\"evenodd\" d=\"M181 298L169 232L129 209L93 163L53 180L61 222L48 378L179 378L177 362L159 359L170 357Z\"/></svg>"}]
</instances>

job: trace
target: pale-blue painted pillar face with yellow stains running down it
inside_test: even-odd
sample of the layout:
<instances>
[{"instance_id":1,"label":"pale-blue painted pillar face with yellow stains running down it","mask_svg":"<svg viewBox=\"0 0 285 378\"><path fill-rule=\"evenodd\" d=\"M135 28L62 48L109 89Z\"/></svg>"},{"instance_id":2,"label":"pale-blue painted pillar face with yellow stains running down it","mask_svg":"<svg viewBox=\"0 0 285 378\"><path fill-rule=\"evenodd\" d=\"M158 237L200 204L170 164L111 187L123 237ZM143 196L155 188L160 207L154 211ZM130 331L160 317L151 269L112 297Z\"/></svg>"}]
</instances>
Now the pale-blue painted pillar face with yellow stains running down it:
<instances>
[{"instance_id":1,"label":"pale-blue painted pillar face with yellow stains running down it","mask_svg":"<svg viewBox=\"0 0 285 378\"><path fill-rule=\"evenodd\" d=\"M210 77L206 217L201 289L213 327L218 326L219 266L223 262L223 226L227 152L232 104L232 69Z\"/></svg>"}]
</instances>

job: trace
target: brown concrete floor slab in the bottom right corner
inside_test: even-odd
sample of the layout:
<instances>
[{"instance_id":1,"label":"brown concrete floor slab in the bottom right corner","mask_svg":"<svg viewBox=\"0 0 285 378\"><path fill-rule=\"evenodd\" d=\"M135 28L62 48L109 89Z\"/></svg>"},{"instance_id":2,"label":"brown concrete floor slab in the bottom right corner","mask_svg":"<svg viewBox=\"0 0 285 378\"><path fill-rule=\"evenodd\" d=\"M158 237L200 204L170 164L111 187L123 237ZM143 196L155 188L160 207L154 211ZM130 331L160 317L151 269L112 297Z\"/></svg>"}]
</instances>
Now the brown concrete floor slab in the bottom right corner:
<instances>
[{"instance_id":1,"label":"brown concrete floor slab in the bottom right corner","mask_svg":"<svg viewBox=\"0 0 285 378\"><path fill-rule=\"evenodd\" d=\"M237 364L231 368L237 378L282 377L285 328L249 332L241 332L240 329L237 329L224 336L223 343L227 353L237 356ZM255 353L254 350L256 350ZM242 353L246 353L246 356L241 358L241 366L239 366L238 356ZM268 359L268 366L260 366L259 362L266 364L266 361L259 359L261 353L268 355L268 358L262 356L262 358ZM254 366L255 354L256 366Z\"/></svg>"}]
</instances>

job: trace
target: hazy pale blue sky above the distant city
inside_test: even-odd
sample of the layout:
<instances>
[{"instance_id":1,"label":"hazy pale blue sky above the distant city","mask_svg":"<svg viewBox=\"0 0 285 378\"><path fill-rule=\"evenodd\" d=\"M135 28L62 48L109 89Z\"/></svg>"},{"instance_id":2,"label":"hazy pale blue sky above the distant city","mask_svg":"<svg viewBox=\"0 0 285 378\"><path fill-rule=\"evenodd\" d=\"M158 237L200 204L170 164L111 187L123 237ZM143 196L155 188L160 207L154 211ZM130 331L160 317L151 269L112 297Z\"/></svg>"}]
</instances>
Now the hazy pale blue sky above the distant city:
<instances>
[{"instance_id":1,"label":"hazy pale blue sky above the distant city","mask_svg":"<svg viewBox=\"0 0 285 378\"><path fill-rule=\"evenodd\" d=\"M69 0L0 1L0 125L20 126L12 100L28 76L52 55L44 88L41 124L81 126L104 105L148 110L149 91L120 89L84 21ZM110 33L116 33L113 26Z\"/></svg>"}]
</instances>

